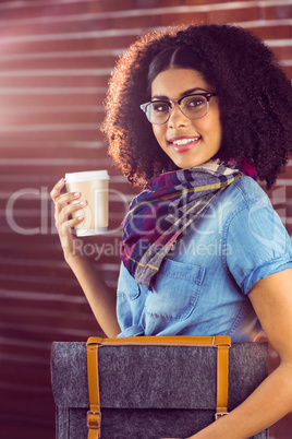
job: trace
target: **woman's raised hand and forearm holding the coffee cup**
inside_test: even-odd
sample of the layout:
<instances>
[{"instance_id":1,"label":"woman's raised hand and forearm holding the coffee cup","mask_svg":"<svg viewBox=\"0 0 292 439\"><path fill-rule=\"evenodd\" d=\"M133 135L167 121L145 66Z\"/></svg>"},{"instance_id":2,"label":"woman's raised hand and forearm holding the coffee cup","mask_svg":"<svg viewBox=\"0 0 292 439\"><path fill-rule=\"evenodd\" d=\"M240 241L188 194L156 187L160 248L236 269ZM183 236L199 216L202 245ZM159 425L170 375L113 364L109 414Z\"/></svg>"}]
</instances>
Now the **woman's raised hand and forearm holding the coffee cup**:
<instances>
[{"instance_id":1,"label":"woman's raised hand and forearm holding the coffee cup","mask_svg":"<svg viewBox=\"0 0 292 439\"><path fill-rule=\"evenodd\" d=\"M81 193L64 193L64 179L61 179L52 189L51 198L56 205L54 221L59 233L64 259L75 274L92 310L107 336L114 337L120 332L120 327L115 313L115 297L110 288L102 281L101 276L94 269L92 262L78 251L78 246L74 246L72 227L82 223L82 216L71 218L71 214L81 210L81 203L69 204L70 201L81 198ZM77 250L76 250L77 249Z\"/></svg>"}]
</instances>

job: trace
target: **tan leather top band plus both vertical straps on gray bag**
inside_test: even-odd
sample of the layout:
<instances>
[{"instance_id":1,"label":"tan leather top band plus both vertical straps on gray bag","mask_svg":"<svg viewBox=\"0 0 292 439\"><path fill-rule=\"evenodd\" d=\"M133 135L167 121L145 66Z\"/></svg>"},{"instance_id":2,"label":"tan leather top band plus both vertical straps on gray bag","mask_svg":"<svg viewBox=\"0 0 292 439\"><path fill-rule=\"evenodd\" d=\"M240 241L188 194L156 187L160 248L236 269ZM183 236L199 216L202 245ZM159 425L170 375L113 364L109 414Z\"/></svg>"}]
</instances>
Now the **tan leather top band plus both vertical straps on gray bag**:
<instances>
[{"instance_id":1,"label":"tan leather top band plus both vertical straps on gray bag","mask_svg":"<svg viewBox=\"0 0 292 439\"><path fill-rule=\"evenodd\" d=\"M194 336L132 336L121 339L89 337L87 341L87 370L89 406L87 412L88 439L100 438L100 401L98 384L98 346L101 345L177 345L210 346L217 348L217 411L215 418L228 414L228 358L231 339L228 335Z\"/></svg>"}]
</instances>

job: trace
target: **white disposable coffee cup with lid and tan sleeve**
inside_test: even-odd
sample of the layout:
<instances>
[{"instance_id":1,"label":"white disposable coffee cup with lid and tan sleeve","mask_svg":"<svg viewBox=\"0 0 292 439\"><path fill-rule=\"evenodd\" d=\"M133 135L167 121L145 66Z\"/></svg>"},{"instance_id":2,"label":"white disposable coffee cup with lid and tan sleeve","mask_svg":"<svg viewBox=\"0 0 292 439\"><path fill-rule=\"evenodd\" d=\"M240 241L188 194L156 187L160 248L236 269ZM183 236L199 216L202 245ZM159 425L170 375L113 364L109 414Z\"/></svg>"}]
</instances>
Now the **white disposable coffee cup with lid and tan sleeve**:
<instances>
[{"instance_id":1,"label":"white disposable coffee cup with lid and tan sleeve","mask_svg":"<svg viewBox=\"0 0 292 439\"><path fill-rule=\"evenodd\" d=\"M75 226L77 236L105 234L109 223L109 175L107 170L88 170L65 174L68 192L81 192L82 197L73 201L87 201L87 205L73 213L73 217L83 215L84 221Z\"/></svg>"}]
</instances>

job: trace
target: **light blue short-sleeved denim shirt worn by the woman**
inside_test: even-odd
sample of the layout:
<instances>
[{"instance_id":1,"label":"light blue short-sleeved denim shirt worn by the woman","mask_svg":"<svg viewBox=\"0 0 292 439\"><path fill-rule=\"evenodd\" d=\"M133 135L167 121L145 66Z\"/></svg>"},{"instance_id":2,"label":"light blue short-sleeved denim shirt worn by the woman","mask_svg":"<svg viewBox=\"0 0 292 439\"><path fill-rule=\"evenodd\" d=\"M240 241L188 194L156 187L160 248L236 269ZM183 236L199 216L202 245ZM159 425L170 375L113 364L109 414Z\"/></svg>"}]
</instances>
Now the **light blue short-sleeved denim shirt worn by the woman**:
<instances>
[{"instance_id":1,"label":"light blue short-sleeved denim shirt worn by the woman","mask_svg":"<svg viewBox=\"0 0 292 439\"><path fill-rule=\"evenodd\" d=\"M215 197L178 240L151 290L121 264L118 336L226 334L233 342L254 341L260 324L247 293L288 268L290 237L266 193L244 176Z\"/></svg>"}]
</instances>

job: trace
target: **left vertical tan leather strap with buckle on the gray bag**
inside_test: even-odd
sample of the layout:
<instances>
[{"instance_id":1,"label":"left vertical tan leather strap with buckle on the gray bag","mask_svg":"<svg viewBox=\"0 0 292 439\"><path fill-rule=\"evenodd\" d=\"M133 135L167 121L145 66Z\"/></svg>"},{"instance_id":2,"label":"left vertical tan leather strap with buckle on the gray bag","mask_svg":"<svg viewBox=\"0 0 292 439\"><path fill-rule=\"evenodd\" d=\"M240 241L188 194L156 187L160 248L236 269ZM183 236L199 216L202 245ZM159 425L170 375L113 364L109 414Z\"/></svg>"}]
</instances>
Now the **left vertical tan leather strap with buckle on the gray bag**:
<instances>
[{"instance_id":1,"label":"left vertical tan leather strap with buckle on the gray bag","mask_svg":"<svg viewBox=\"0 0 292 439\"><path fill-rule=\"evenodd\" d=\"M100 438L100 400L98 384L98 343L87 343L87 372L88 372L88 392L89 411L87 412L88 439Z\"/></svg>"}]
</instances>

